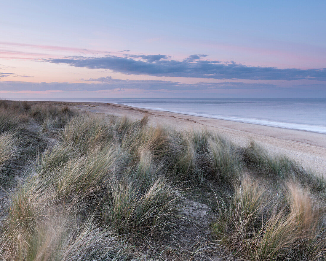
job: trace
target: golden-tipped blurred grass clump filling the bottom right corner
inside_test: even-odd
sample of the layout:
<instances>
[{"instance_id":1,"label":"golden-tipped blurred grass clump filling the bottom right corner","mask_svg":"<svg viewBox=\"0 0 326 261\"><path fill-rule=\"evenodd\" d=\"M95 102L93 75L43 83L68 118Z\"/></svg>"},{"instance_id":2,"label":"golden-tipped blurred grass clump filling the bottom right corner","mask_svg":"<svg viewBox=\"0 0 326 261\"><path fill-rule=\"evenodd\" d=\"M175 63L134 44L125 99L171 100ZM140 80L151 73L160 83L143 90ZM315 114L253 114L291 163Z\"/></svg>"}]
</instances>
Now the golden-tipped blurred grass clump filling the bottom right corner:
<instances>
[{"instance_id":1,"label":"golden-tipped blurred grass clump filling the bottom right corner","mask_svg":"<svg viewBox=\"0 0 326 261\"><path fill-rule=\"evenodd\" d=\"M229 204L221 205L213 228L235 255L248 260L324 260L325 206L299 184L281 192L242 181Z\"/></svg>"}]
</instances>

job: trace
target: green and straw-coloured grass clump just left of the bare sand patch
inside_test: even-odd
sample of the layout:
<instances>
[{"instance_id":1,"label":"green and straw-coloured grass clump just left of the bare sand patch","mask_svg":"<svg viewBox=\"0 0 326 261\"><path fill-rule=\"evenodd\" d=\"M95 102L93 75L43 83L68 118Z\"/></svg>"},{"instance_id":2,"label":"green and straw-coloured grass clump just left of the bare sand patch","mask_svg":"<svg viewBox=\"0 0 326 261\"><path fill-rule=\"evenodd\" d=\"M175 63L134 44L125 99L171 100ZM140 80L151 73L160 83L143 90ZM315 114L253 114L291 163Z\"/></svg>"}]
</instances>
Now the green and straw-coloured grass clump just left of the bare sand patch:
<instances>
[{"instance_id":1,"label":"green and straw-coloured grass clump just left of the bare sand patch","mask_svg":"<svg viewBox=\"0 0 326 261\"><path fill-rule=\"evenodd\" d=\"M162 178L145 188L137 182L112 183L101 203L102 222L136 237L172 237L187 220L180 191Z\"/></svg>"}]
</instances>

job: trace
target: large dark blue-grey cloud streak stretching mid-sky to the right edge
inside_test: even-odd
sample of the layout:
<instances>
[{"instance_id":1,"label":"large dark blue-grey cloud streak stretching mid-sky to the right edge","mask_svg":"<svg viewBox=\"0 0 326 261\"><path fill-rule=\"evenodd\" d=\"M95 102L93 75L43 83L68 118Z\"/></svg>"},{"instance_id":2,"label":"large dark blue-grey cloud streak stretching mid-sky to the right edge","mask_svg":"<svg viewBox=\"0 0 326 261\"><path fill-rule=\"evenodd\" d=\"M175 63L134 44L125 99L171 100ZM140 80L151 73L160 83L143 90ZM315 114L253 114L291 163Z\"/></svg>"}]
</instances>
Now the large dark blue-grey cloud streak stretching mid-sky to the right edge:
<instances>
[{"instance_id":1,"label":"large dark blue-grey cloud streak stretching mid-sky to the right edge","mask_svg":"<svg viewBox=\"0 0 326 261\"><path fill-rule=\"evenodd\" d=\"M181 61L163 59L167 57L164 55L161 55L163 57L157 56L137 56L143 58L143 60L134 59L136 57L131 56L118 57L107 55L105 57L55 58L45 61L70 64L74 67L110 69L113 72L137 75L213 79L326 80L326 68L306 70L295 68L278 69L274 67L246 66L235 62L200 59L206 55L191 55Z\"/></svg>"}]
</instances>

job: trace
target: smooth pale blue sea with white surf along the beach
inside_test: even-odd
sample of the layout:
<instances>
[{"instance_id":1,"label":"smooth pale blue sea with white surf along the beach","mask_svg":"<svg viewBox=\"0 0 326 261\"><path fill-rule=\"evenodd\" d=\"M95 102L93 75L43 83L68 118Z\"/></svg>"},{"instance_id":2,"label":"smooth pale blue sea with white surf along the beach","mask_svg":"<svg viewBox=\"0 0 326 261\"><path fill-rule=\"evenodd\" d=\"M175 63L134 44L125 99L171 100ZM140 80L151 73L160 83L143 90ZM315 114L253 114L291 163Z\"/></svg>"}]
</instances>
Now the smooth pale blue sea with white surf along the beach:
<instances>
[{"instance_id":1,"label":"smooth pale blue sea with white surf along the beach","mask_svg":"<svg viewBox=\"0 0 326 261\"><path fill-rule=\"evenodd\" d=\"M51 100L51 99L50 99ZM326 133L326 99L52 99L104 102Z\"/></svg>"}]
</instances>

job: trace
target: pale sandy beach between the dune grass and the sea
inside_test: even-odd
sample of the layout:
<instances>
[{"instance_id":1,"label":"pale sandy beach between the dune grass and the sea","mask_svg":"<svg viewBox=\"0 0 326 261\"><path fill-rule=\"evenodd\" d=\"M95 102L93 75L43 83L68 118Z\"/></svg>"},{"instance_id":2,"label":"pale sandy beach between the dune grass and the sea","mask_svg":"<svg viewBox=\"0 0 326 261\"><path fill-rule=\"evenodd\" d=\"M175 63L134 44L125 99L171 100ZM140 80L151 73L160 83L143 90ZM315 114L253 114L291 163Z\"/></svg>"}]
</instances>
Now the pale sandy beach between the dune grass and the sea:
<instances>
[{"instance_id":1,"label":"pale sandy beach between the dune grass and the sea","mask_svg":"<svg viewBox=\"0 0 326 261\"><path fill-rule=\"evenodd\" d=\"M232 122L166 111L140 109L108 103L56 102L101 114L140 119L145 114L154 124L175 128L206 128L244 145L253 139L272 153L285 154L304 167L326 175L326 134L292 130L243 122Z\"/></svg>"}]
</instances>

